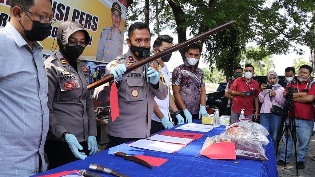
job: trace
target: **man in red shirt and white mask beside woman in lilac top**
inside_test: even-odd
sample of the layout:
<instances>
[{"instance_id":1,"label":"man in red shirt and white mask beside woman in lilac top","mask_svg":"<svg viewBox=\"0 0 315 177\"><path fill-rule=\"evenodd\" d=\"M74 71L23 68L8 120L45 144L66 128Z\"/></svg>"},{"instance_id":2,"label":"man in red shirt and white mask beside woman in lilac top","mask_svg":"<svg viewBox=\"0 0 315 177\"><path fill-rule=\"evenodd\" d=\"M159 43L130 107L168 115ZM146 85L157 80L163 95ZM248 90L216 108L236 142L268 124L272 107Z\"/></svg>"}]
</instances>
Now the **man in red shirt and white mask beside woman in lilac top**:
<instances>
[{"instance_id":1,"label":"man in red shirt and white mask beside woman in lilac top","mask_svg":"<svg viewBox=\"0 0 315 177\"><path fill-rule=\"evenodd\" d=\"M231 111L231 122L238 120L241 115L241 110L244 109L245 118L252 119L254 102L255 102L255 114L254 118L258 118L259 109L259 84L252 77L255 68L251 64L245 65L244 77L235 79L233 84L230 86L229 94L234 95Z\"/></svg>"}]
</instances>

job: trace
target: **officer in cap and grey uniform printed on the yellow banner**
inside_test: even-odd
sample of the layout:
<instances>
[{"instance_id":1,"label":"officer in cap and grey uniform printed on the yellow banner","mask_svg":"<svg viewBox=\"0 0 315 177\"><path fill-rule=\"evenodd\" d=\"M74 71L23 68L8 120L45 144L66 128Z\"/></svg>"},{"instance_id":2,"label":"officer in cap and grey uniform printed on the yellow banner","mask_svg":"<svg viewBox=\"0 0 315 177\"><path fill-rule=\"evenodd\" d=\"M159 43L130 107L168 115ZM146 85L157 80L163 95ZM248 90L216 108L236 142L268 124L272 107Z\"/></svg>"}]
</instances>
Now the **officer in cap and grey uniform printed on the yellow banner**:
<instances>
[{"instance_id":1,"label":"officer in cap and grey uniform printed on the yellow banner","mask_svg":"<svg viewBox=\"0 0 315 177\"><path fill-rule=\"evenodd\" d=\"M111 62L123 53L123 31L119 29L121 7L118 3L112 5L113 26L104 28L96 52L96 60Z\"/></svg>"}]
</instances>

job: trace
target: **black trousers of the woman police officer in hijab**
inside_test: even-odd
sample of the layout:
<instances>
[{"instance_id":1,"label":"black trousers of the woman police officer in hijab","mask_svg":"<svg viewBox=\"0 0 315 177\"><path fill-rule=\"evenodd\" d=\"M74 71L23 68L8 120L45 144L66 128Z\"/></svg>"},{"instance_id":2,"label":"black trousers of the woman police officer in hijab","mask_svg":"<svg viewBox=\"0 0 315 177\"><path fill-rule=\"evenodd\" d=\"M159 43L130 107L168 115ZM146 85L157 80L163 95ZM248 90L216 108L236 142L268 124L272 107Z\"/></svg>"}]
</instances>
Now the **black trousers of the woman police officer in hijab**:
<instances>
[{"instance_id":1,"label":"black trousers of the woman police officer in hijab","mask_svg":"<svg viewBox=\"0 0 315 177\"><path fill-rule=\"evenodd\" d=\"M84 152L85 155L89 156L88 143L86 141L79 143L83 147L83 150L78 151ZM68 143L64 141L46 140L45 152L49 161L49 170L79 160L73 155Z\"/></svg>"}]
</instances>

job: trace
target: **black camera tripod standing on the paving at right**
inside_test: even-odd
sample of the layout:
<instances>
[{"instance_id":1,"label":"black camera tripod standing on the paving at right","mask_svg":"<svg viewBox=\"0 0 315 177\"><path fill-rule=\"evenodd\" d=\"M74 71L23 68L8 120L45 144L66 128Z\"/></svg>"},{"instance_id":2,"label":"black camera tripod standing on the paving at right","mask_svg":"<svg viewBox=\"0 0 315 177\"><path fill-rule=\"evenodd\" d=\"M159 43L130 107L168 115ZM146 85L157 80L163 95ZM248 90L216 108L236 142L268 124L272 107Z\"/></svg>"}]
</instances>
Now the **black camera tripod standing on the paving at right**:
<instances>
[{"instance_id":1,"label":"black camera tripod standing on the paving at right","mask_svg":"<svg viewBox=\"0 0 315 177\"><path fill-rule=\"evenodd\" d=\"M296 176L299 175L299 171L297 168L297 153L296 153L296 128L295 128L295 112L294 112L294 102L293 102L293 93L291 92L292 87L287 88L287 95L285 96L285 102L283 107L283 114L281 119L280 128L278 130L277 136L277 151L276 157L278 155L279 144L282 136L284 135L286 138L285 143L285 157L284 157L284 169L286 168L287 161L287 151L288 151L288 140L290 136L294 141L294 150L295 150L295 168L296 168ZM288 116L289 113L289 116Z\"/></svg>"}]
</instances>

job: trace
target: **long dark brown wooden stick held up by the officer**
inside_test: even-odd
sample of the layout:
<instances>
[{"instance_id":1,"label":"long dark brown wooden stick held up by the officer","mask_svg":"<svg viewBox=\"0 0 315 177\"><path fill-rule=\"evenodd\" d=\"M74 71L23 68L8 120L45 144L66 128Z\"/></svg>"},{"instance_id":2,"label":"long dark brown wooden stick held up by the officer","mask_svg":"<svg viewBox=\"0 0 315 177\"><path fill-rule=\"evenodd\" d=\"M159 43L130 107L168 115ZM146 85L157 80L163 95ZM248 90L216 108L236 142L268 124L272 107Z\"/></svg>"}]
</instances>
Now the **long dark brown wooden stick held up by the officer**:
<instances>
[{"instance_id":1,"label":"long dark brown wooden stick held up by the officer","mask_svg":"<svg viewBox=\"0 0 315 177\"><path fill-rule=\"evenodd\" d=\"M165 56L167 54L175 52L176 50L184 48L184 47L186 47L186 46L188 46L188 45L190 45L192 43L195 43L195 42L197 42L197 41L199 41L199 40L201 40L201 39L203 39L205 37L210 36L211 34L214 34L214 33L218 32L218 31L221 31L221 30L229 27L229 26L232 26L233 24L235 24L235 20L232 20L232 21L230 21L230 22L228 22L226 24L223 24L221 26L217 26L214 29L211 29L211 30L209 30L207 32L204 32L203 34L200 34L200 35L198 35L196 37L188 39L187 41L179 43L179 44L177 44L177 45L175 45L173 47L170 47L169 49L163 50L162 52L159 52L159 53L157 53L155 55L152 55L152 56L146 58L145 60L141 60L141 61L137 62L136 64L127 67L127 71L126 72L130 72L132 70L140 68L141 66L144 66L147 63L150 63L150 62L152 62L154 60L157 60L157 59L159 59L159 58L161 58L161 57L163 57L163 56ZM109 81L111 81L113 79L114 79L113 75L106 76L106 77L102 78L101 80L88 85L88 89L92 90L92 89L94 89L96 87L99 87L99 86L105 84L105 83L108 83Z\"/></svg>"}]
</instances>

